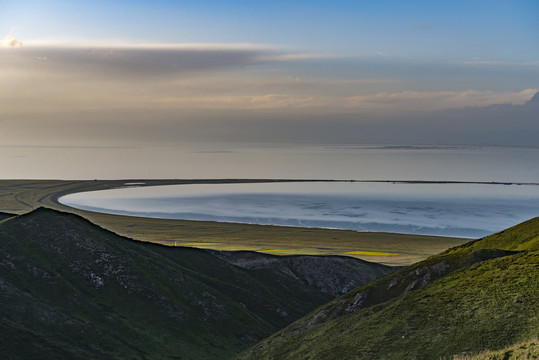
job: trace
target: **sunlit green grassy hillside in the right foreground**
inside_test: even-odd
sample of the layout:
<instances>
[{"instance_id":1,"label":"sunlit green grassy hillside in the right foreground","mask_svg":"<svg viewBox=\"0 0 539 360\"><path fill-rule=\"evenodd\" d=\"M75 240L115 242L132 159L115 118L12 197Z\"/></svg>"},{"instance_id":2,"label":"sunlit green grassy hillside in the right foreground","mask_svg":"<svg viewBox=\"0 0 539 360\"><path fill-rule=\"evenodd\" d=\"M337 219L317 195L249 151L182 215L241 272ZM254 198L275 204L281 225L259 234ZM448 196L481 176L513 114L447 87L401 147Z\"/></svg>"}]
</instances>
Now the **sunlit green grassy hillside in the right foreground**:
<instances>
[{"instance_id":1,"label":"sunlit green grassy hillside in the right foreground","mask_svg":"<svg viewBox=\"0 0 539 360\"><path fill-rule=\"evenodd\" d=\"M355 289L238 359L438 360L504 349L539 335L538 274L535 218Z\"/></svg>"}]
</instances>

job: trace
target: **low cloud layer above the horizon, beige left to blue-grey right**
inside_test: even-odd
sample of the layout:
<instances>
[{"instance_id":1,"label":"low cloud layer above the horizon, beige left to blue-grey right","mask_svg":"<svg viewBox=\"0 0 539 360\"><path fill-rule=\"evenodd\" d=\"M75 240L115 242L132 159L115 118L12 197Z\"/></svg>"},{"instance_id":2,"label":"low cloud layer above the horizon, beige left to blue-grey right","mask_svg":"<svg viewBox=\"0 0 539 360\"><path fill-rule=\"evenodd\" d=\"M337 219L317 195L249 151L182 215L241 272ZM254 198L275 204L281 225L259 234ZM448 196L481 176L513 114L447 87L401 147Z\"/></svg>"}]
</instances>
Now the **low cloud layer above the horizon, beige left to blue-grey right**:
<instances>
[{"instance_id":1,"label":"low cloud layer above the horizon, beige left to blue-grey right","mask_svg":"<svg viewBox=\"0 0 539 360\"><path fill-rule=\"evenodd\" d=\"M528 92L531 91L515 94ZM170 99L171 103L145 103L145 99L136 98L130 102L122 100L126 102L120 109L116 101L112 103L115 108L106 108L111 104L106 103L105 95L90 98L90 106L84 111L72 107L72 98L66 101L62 94L57 100L60 105L65 102L64 112L32 114L27 110L3 116L0 142L16 145L70 142L88 146L161 146L184 142L539 146L538 108L529 102L365 113L353 107L349 112L340 107L315 107L315 103L329 103L329 98L272 94L190 100L179 97ZM413 92L388 95L400 100L416 96ZM376 100L385 97L379 94ZM50 106L51 100L47 98L44 104ZM32 105L41 109L45 106L33 101ZM29 108L24 102L19 107ZM4 107L0 109L3 111Z\"/></svg>"}]
</instances>

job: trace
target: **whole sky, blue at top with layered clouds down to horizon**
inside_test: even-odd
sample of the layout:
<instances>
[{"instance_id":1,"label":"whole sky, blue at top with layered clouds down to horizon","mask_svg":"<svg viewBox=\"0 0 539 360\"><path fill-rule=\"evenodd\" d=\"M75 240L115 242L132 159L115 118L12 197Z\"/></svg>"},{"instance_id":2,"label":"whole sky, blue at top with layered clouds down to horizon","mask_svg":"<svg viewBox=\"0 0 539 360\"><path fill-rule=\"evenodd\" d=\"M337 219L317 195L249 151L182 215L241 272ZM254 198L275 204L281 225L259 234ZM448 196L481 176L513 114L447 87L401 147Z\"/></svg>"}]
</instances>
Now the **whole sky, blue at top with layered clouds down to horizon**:
<instances>
[{"instance_id":1,"label":"whole sky, blue at top with layered clouds down to horizon","mask_svg":"<svg viewBox=\"0 0 539 360\"><path fill-rule=\"evenodd\" d=\"M2 36L10 169L35 148L539 147L535 0L0 0Z\"/></svg>"}]
</instances>

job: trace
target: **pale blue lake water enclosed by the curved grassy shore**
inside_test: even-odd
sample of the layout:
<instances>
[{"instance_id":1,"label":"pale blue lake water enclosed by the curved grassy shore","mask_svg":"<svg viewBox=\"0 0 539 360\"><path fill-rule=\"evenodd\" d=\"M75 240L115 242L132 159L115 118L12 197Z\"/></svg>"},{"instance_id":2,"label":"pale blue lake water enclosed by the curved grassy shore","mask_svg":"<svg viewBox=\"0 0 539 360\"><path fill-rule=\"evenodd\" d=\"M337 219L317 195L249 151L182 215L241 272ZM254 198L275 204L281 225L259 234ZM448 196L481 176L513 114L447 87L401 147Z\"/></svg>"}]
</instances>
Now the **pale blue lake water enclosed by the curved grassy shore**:
<instances>
[{"instance_id":1,"label":"pale blue lake water enclosed by the curved grassy shore","mask_svg":"<svg viewBox=\"0 0 539 360\"><path fill-rule=\"evenodd\" d=\"M539 186L300 182L134 187L60 202L112 214L481 237L539 216Z\"/></svg>"}]
</instances>

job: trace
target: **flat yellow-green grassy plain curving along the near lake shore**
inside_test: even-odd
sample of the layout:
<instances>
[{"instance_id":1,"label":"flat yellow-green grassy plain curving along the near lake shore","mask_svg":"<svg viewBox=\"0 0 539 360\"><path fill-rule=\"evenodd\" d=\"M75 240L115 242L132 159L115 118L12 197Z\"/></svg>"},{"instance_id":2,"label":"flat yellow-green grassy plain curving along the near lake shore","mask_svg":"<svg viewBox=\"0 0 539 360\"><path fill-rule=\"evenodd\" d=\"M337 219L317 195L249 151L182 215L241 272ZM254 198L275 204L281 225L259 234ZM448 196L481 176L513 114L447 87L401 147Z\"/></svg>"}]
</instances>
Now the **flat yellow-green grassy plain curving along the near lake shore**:
<instances>
[{"instance_id":1,"label":"flat yellow-green grassy plain curving along the near lake shore","mask_svg":"<svg viewBox=\"0 0 539 360\"><path fill-rule=\"evenodd\" d=\"M40 206L79 214L120 235L169 246L251 250L275 255L342 255L409 265L469 239L382 232L296 228L110 215L74 209L58 198L126 183L152 185L264 182L263 180L0 180L0 211L21 214Z\"/></svg>"}]
</instances>

